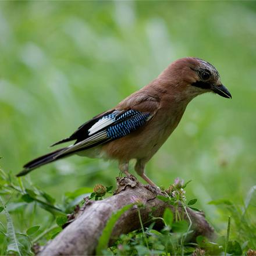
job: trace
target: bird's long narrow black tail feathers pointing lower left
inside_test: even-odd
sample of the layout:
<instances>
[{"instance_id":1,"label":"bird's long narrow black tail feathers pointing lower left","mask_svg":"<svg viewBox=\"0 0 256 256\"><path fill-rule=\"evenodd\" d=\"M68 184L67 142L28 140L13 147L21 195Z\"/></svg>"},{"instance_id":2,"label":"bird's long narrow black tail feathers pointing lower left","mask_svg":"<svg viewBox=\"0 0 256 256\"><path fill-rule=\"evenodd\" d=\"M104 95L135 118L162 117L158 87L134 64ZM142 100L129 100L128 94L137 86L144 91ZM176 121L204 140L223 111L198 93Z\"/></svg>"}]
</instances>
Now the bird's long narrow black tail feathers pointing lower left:
<instances>
[{"instance_id":1,"label":"bird's long narrow black tail feathers pointing lower left","mask_svg":"<svg viewBox=\"0 0 256 256\"><path fill-rule=\"evenodd\" d=\"M26 165L23 166L24 169L22 170L22 172L19 172L16 176L20 177L26 175L27 173L31 172L31 170L34 170L42 165L46 165L47 163L51 163L57 159L66 157L66 154L62 154L62 152L64 152L65 150L66 148L60 148L59 150L35 158L34 160L26 163Z\"/></svg>"}]
</instances>

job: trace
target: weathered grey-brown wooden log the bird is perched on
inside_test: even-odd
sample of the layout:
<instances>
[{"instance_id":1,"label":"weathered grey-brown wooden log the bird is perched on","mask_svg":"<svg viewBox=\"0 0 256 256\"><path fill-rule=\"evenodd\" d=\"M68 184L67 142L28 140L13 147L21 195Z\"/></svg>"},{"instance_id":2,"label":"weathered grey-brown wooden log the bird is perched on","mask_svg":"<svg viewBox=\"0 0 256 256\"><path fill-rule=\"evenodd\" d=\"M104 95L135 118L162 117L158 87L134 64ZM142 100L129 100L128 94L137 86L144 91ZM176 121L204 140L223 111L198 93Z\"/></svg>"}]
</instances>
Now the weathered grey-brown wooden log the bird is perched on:
<instances>
[{"instance_id":1,"label":"weathered grey-brown wooden log the bird is perched on","mask_svg":"<svg viewBox=\"0 0 256 256\"><path fill-rule=\"evenodd\" d=\"M150 214L154 217L162 217L166 207L175 211L172 205L157 198L157 195L162 192L155 187L138 183L133 176L117 178L117 182L118 189L115 195L101 201L88 200L83 209L79 210L76 219L65 227L51 243L47 244L40 255L93 255L108 219L113 212L131 204L134 196L145 202L145 207L140 210L145 226L150 223ZM152 211L152 209L154 210ZM179 210L182 211L181 208ZM187 208L187 212L194 230L190 240L194 240L200 234L208 238L214 235L214 230L205 220L203 213L190 208ZM161 225L162 223L157 224ZM116 222L109 245L113 244L120 234L126 234L139 228L137 209L131 208Z\"/></svg>"}]
</instances>

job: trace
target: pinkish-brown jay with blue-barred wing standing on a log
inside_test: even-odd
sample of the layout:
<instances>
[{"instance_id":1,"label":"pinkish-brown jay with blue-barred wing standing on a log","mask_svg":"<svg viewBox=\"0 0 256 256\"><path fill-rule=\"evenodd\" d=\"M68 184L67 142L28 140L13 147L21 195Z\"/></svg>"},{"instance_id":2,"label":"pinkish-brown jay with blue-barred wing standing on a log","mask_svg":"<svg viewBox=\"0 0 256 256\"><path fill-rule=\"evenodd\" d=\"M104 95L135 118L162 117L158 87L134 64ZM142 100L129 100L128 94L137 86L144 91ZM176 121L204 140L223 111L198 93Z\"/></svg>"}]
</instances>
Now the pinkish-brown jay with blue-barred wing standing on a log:
<instances>
[{"instance_id":1,"label":"pinkish-brown jay with blue-barred wing standing on a log","mask_svg":"<svg viewBox=\"0 0 256 256\"><path fill-rule=\"evenodd\" d=\"M193 57L177 59L147 86L52 146L70 141L73 144L26 163L16 176L70 155L80 155L114 159L126 176L130 175L129 162L136 159L136 173L156 186L145 174L145 165L176 129L189 102L208 92L232 98L211 63Z\"/></svg>"}]
</instances>

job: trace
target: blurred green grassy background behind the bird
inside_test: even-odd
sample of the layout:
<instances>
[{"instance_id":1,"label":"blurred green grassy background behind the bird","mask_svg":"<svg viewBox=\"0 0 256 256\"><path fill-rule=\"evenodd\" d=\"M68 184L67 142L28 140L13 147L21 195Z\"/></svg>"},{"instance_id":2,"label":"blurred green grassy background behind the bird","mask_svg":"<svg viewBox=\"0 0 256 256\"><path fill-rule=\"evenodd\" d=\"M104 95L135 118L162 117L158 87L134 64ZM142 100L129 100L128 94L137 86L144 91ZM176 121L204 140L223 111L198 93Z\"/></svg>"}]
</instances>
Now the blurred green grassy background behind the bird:
<instances>
[{"instance_id":1,"label":"blurred green grassy background behind the bird","mask_svg":"<svg viewBox=\"0 0 256 256\"><path fill-rule=\"evenodd\" d=\"M217 67L233 98L195 98L147 174L164 186L193 180L188 197L222 229L227 215L207 202L242 203L256 183L255 28L256 3L246 1L1 2L2 168L14 175L170 62L197 56ZM118 173L115 162L72 157L26 179L61 200L81 186L111 186Z\"/></svg>"}]
</instances>

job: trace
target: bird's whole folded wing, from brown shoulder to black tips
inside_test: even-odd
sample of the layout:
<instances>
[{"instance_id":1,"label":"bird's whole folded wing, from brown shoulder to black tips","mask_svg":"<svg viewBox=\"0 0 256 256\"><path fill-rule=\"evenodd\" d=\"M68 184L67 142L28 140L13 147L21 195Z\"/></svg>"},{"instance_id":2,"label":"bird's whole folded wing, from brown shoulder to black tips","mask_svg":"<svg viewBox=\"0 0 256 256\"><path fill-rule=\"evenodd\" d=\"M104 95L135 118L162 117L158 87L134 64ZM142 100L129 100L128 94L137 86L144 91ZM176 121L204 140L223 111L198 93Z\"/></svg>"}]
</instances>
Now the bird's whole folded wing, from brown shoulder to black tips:
<instances>
[{"instance_id":1,"label":"bird's whole folded wing, from brown shoulder to black tips","mask_svg":"<svg viewBox=\"0 0 256 256\"><path fill-rule=\"evenodd\" d=\"M158 107L159 99L139 91L124 99L116 108L95 116L81 125L69 138L54 145L76 140L74 145L62 151L63 156L116 140L145 125L155 115Z\"/></svg>"}]
</instances>

